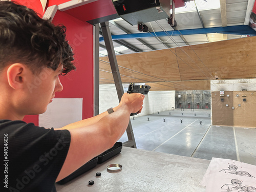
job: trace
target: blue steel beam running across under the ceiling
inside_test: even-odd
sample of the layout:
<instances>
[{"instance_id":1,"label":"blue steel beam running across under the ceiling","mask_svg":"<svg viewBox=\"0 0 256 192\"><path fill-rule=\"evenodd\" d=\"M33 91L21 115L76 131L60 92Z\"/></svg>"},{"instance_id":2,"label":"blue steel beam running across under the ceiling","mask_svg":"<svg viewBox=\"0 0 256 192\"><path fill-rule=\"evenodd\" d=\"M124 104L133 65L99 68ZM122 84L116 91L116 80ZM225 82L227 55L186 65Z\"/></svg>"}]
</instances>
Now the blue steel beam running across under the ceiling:
<instances>
[{"instance_id":1,"label":"blue steel beam running across under the ceiling","mask_svg":"<svg viewBox=\"0 0 256 192\"><path fill-rule=\"evenodd\" d=\"M254 31L248 25L238 25L238 26L227 26L227 27L210 27L210 28L199 28L199 29L185 29L179 31L160 31L156 32L156 36L164 37L168 35L197 35L197 34L207 34L207 33L225 33L225 34L236 34L236 35L251 35L256 36L256 31ZM129 39L129 38L146 38L153 37L154 33L134 33L134 34L124 34L124 35L112 35L112 39ZM103 41L103 37L99 38Z\"/></svg>"}]
</instances>

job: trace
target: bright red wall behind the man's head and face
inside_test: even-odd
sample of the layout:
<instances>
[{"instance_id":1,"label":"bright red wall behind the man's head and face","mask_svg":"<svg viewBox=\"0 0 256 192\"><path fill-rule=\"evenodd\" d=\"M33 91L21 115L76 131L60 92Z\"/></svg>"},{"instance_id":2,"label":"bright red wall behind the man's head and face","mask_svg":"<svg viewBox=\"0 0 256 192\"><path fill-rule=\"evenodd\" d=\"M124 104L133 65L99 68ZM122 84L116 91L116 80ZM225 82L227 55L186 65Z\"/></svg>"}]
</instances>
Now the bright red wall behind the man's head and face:
<instances>
[{"instance_id":1,"label":"bright red wall behind the man's head and face","mask_svg":"<svg viewBox=\"0 0 256 192\"><path fill-rule=\"evenodd\" d=\"M40 1L16 1L23 5L40 7ZM30 3L32 2L32 3ZM65 2L64 0L61 3ZM37 5L37 6L35 6ZM40 4L41 5L41 4ZM28 6L28 7L29 7ZM55 98L83 98L82 118L93 116L93 26L57 11L53 23L63 24L67 27L67 39L75 53L75 65L77 70L66 76L60 77L63 90L55 94ZM63 103L65 104L65 103ZM38 125L38 115L28 115L24 118L26 122Z\"/></svg>"}]
</instances>

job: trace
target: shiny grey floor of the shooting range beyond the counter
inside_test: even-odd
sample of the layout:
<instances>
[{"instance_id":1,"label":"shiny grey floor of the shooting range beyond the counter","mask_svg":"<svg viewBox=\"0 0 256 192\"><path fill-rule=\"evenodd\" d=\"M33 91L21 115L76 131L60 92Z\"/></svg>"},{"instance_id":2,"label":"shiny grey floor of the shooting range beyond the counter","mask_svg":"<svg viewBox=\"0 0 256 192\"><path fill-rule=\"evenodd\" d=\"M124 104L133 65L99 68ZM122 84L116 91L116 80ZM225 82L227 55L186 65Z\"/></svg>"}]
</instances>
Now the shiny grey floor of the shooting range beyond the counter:
<instances>
[{"instance_id":1,"label":"shiny grey floor of the shooting range beyond the counter","mask_svg":"<svg viewBox=\"0 0 256 192\"><path fill-rule=\"evenodd\" d=\"M175 109L135 116L131 122L137 148L208 160L212 157L232 159L256 165L256 129L210 125L210 110ZM126 133L119 141L127 141Z\"/></svg>"}]
</instances>

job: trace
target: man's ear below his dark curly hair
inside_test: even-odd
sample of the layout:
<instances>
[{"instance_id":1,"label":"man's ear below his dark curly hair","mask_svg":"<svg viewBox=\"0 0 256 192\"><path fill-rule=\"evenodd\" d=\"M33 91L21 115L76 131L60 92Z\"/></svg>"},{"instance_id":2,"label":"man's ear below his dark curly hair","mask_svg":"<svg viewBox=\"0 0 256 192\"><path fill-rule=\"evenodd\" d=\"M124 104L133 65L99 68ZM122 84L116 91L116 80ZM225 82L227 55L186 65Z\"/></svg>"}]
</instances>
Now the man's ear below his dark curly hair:
<instances>
[{"instance_id":1,"label":"man's ear below his dark curly hair","mask_svg":"<svg viewBox=\"0 0 256 192\"><path fill-rule=\"evenodd\" d=\"M9 66L7 70L7 80L9 86L13 89L20 89L23 87L24 74L26 66L21 63L14 63Z\"/></svg>"}]
</instances>

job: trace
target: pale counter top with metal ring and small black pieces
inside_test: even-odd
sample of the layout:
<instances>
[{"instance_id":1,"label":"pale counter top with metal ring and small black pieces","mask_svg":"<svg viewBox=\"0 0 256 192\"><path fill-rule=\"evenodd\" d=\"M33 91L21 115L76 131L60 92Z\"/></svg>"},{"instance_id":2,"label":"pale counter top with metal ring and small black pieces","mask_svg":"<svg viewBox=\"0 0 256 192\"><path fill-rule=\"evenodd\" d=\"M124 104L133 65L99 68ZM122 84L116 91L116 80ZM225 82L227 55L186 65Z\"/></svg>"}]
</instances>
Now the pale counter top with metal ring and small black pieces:
<instances>
[{"instance_id":1,"label":"pale counter top with metal ring and small black pieces","mask_svg":"<svg viewBox=\"0 0 256 192\"><path fill-rule=\"evenodd\" d=\"M121 164L118 173L109 173L106 166ZM172 154L123 147L120 154L98 164L93 169L59 185L58 192L104 191L104 192L203 192L199 183L210 161ZM101 172L100 177L96 173ZM90 180L94 185L89 185Z\"/></svg>"}]
</instances>

